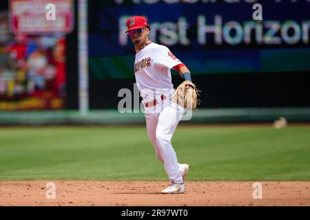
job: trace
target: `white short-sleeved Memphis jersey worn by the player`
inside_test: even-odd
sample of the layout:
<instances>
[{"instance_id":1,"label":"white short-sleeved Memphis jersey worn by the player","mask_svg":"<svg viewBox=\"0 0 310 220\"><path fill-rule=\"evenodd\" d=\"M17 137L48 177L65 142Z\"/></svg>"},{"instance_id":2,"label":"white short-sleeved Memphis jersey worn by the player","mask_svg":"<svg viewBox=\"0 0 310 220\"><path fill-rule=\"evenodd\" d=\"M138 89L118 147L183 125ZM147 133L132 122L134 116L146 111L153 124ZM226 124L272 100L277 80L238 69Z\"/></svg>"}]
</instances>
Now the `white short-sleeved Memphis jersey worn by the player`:
<instances>
[{"instance_id":1,"label":"white short-sleeved Memphis jersey worn by the player","mask_svg":"<svg viewBox=\"0 0 310 220\"><path fill-rule=\"evenodd\" d=\"M157 43L150 43L136 53L134 73L144 102L162 94L172 94L174 86L170 69L180 63L167 47Z\"/></svg>"}]
</instances>

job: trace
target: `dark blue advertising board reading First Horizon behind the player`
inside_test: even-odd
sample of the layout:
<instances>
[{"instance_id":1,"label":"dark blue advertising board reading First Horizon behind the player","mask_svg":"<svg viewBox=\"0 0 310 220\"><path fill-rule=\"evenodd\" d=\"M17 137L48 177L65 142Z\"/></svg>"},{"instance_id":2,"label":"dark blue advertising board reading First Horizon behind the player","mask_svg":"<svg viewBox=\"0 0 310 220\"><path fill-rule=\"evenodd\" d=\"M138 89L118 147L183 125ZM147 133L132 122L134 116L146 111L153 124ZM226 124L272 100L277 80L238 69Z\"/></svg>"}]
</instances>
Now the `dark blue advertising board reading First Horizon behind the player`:
<instances>
[{"instance_id":1,"label":"dark blue advertising board reading First Horizon behind the player","mask_svg":"<svg viewBox=\"0 0 310 220\"><path fill-rule=\"evenodd\" d=\"M254 21L254 3L262 21ZM90 72L133 78L134 47L125 33L133 15L149 20L150 39L169 47L194 74L309 71L310 2L90 1Z\"/></svg>"}]
</instances>

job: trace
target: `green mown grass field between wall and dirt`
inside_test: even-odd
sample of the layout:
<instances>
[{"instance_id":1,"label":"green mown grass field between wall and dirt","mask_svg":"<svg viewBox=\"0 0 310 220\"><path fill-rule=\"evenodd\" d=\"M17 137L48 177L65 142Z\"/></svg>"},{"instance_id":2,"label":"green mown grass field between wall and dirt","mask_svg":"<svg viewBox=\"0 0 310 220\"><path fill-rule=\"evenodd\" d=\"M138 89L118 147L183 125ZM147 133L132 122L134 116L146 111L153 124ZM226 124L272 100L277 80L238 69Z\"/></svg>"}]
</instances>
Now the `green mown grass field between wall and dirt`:
<instances>
[{"instance_id":1,"label":"green mown grass field between wall and dirt","mask_svg":"<svg viewBox=\"0 0 310 220\"><path fill-rule=\"evenodd\" d=\"M188 180L310 180L310 126L178 126ZM0 128L0 180L167 180L144 126Z\"/></svg>"}]
</instances>

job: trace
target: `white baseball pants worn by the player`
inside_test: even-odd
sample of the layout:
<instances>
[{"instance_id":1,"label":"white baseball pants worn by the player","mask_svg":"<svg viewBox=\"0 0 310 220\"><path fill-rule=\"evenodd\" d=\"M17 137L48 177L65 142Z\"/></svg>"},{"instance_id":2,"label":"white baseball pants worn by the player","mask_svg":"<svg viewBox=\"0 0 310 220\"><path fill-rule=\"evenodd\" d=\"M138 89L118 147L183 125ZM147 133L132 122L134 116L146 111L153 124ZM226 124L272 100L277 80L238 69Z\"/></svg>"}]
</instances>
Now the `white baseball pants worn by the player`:
<instances>
[{"instance_id":1,"label":"white baseball pants worn by the player","mask_svg":"<svg viewBox=\"0 0 310 220\"><path fill-rule=\"evenodd\" d=\"M165 171L171 181L182 184L180 174L183 166L178 164L176 152L171 144L172 135L183 115L183 107L167 99L155 107L145 108L147 135L152 142L156 156L165 165Z\"/></svg>"}]
</instances>

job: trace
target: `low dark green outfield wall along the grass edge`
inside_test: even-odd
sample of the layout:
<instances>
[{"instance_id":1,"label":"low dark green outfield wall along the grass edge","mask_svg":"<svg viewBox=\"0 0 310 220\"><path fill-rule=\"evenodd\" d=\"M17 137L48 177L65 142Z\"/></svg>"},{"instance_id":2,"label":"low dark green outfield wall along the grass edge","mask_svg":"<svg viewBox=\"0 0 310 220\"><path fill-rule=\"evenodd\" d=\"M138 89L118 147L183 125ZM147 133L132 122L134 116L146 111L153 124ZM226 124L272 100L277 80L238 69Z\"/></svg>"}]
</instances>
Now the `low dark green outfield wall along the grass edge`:
<instances>
[{"instance_id":1,"label":"low dark green outfield wall along the grass edge","mask_svg":"<svg viewBox=\"0 0 310 220\"><path fill-rule=\"evenodd\" d=\"M191 120L181 124L269 123L284 117L287 122L310 122L310 108L198 109ZM143 113L119 113L117 110L0 112L0 125L104 125L144 124Z\"/></svg>"}]
</instances>

